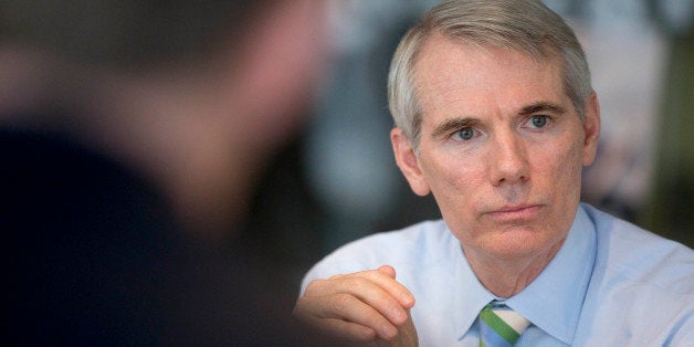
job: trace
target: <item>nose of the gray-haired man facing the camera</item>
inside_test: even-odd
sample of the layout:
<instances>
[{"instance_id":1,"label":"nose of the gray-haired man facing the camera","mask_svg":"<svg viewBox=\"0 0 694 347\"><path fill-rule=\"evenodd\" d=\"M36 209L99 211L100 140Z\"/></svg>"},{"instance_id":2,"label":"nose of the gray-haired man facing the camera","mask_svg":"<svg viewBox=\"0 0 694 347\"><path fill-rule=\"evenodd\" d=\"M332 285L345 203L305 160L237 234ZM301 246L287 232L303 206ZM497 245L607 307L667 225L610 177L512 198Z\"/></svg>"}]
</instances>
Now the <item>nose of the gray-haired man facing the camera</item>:
<instances>
[{"instance_id":1,"label":"nose of the gray-haired man facing the camera","mask_svg":"<svg viewBox=\"0 0 694 347\"><path fill-rule=\"evenodd\" d=\"M516 185L530 178L528 157L525 145L512 130L497 134L492 141L490 179L492 185Z\"/></svg>"}]
</instances>

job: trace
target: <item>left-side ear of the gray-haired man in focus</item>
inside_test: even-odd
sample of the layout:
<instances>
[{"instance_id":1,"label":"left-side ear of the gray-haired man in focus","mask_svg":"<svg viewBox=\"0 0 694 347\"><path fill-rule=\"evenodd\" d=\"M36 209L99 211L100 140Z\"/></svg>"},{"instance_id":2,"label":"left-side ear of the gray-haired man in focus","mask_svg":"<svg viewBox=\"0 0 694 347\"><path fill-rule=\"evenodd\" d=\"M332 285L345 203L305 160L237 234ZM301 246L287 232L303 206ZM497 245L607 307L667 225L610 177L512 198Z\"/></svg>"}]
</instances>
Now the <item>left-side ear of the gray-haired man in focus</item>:
<instances>
[{"instance_id":1,"label":"left-side ear of the gray-haired man in focus","mask_svg":"<svg viewBox=\"0 0 694 347\"><path fill-rule=\"evenodd\" d=\"M410 183L412 191L420 197L427 196L431 189L422 175L419 158L414 154L410 139L402 133L402 129L393 128L390 130L390 143L396 156L396 164Z\"/></svg>"}]
</instances>

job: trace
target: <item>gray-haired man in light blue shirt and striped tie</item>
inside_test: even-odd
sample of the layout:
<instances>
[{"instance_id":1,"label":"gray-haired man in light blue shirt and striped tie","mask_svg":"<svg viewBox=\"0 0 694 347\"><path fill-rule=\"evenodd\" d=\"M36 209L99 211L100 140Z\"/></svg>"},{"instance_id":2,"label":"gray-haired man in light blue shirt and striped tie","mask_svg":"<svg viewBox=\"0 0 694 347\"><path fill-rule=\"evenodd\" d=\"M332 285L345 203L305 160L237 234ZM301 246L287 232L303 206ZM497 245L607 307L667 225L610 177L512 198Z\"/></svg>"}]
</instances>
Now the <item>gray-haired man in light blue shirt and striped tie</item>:
<instances>
[{"instance_id":1,"label":"gray-haired man in light blue shirt and striped tie","mask_svg":"<svg viewBox=\"0 0 694 347\"><path fill-rule=\"evenodd\" d=\"M398 167L443 220L328 255L296 316L393 345L694 344L694 252L579 202L600 114L557 14L444 1L400 42L388 87Z\"/></svg>"}]
</instances>

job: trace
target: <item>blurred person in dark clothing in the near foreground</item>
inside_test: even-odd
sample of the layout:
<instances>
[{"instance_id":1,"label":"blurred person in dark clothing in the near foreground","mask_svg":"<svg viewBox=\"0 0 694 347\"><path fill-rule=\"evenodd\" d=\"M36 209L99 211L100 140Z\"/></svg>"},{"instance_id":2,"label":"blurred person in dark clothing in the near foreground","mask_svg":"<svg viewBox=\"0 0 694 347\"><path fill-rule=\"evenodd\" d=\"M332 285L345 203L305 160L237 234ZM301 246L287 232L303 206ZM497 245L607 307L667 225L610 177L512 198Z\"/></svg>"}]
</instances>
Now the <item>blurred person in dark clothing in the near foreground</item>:
<instances>
[{"instance_id":1,"label":"blurred person in dark clothing in the near foreground","mask_svg":"<svg viewBox=\"0 0 694 347\"><path fill-rule=\"evenodd\" d=\"M0 340L292 343L295 294L233 239L307 114L323 6L0 4Z\"/></svg>"}]
</instances>

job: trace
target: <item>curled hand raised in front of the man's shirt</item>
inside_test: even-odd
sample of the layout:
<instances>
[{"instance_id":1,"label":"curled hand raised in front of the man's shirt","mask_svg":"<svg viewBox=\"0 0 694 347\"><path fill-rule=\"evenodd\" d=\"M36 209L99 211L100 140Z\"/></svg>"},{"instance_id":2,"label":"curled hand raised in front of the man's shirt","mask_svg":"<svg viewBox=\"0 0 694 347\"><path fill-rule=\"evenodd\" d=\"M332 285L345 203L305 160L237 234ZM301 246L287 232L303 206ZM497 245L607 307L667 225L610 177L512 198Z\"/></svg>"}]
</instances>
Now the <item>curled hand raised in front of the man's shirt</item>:
<instances>
[{"instance_id":1,"label":"curled hand raised in front of the man's shirt","mask_svg":"<svg viewBox=\"0 0 694 347\"><path fill-rule=\"evenodd\" d=\"M319 332L346 341L395 344L414 339L409 309L414 297L388 265L336 275L308 284L294 315ZM386 345L388 346L388 345ZM404 346L404 345L402 345Z\"/></svg>"}]
</instances>

